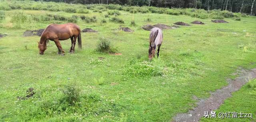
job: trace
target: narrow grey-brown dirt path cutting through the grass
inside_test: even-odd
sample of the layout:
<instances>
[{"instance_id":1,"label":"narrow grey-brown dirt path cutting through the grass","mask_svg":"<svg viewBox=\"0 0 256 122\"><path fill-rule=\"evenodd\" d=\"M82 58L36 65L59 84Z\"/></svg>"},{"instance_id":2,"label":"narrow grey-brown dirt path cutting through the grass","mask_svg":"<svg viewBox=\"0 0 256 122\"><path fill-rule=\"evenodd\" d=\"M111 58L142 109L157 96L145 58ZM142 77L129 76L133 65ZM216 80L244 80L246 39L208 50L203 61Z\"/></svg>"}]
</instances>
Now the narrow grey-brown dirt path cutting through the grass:
<instances>
[{"instance_id":1,"label":"narrow grey-brown dirt path cutting through the grass","mask_svg":"<svg viewBox=\"0 0 256 122\"><path fill-rule=\"evenodd\" d=\"M238 72L240 72L238 73L239 77L236 77L234 80L227 80L228 86L211 93L208 99L200 100L197 104L198 106L188 113L176 115L173 118L173 122L198 122L200 118L204 116L204 112L216 110L225 99L232 96L234 91L240 89L242 85L247 83L250 79L256 78L256 68L252 70L239 70Z\"/></svg>"}]
</instances>

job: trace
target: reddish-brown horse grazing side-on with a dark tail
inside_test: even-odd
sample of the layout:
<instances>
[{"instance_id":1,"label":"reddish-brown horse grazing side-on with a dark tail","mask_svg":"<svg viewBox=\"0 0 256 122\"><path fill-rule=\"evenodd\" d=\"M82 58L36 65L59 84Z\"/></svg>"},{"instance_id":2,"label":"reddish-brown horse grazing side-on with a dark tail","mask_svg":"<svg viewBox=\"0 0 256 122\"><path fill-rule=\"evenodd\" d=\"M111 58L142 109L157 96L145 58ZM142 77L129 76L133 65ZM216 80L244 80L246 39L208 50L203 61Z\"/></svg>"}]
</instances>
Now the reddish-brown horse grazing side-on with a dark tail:
<instances>
[{"instance_id":1,"label":"reddish-brown horse grazing side-on with a dark tail","mask_svg":"<svg viewBox=\"0 0 256 122\"><path fill-rule=\"evenodd\" d=\"M64 55L64 50L62 49L59 40L67 40L69 38L71 39L70 53L74 53L76 38L78 38L79 48L82 48L81 31L78 25L74 23L48 25L42 33L40 42L38 42L39 54L44 54L44 51L46 50L46 42L50 40L54 41L56 44L58 54Z\"/></svg>"}]
</instances>

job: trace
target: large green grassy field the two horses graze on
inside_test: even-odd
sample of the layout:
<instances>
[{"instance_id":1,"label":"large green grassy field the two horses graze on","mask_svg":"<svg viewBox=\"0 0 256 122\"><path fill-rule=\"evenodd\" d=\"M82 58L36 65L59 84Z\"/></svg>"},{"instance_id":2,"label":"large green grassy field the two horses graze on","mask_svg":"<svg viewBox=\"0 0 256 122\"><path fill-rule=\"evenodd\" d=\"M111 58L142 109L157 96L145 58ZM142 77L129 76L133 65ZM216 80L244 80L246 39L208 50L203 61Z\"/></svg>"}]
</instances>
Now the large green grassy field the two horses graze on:
<instances>
[{"instance_id":1,"label":"large green grassy field the two horses graze on","mask_svg":"<svg viewBox=\"0 0 256 122\"><path fill-rule=\"evenodd\" d=\"M132 27L130 12L119 11L118 18L124 20L120 24L110 21L114 15L105 18L108 11L89 11L88 14L4 11L5 19L0 20L0 33L7 35L0 38L1 121L171 121L176 114L196 107L193 96L207 98L210 91L227 85L226 79L236 77L231 74L238 67L256 67L256 17L212 23L187 15L136 13L136 25ZM96 23L86 23L80 18L76 23L81 29L89 27L98 33L82 33L82 50L76 47L74 54L68 53L71 41L66 40L60 42L66 51L64 56L57 54L52 41L44 55L40 55L36 42L40 37L22 37L23 32L66 21L26 19L20 24L12 19L17 12L30 16L96 16ZM151 21L146 21L148 18ZM101 23L102 19L106 23ZM160 58L148 61L150 32L141 29L142 25L195 20L206 24L163 30ZM120 25L134 32L119 31ZM102 37L122 55L97 52ZM36 92L33 97L18 100L17 97L26 96L30 87ZM75 91L80 89L74 105L68 103L63 92L70 87ZM237 94L243 92L247 92L246 87ZM255 98L255 92L252 97ZM243 102L246 101L251 99ZM221 107L220 111L226 109Z\"/></svg>"}]
</instances>

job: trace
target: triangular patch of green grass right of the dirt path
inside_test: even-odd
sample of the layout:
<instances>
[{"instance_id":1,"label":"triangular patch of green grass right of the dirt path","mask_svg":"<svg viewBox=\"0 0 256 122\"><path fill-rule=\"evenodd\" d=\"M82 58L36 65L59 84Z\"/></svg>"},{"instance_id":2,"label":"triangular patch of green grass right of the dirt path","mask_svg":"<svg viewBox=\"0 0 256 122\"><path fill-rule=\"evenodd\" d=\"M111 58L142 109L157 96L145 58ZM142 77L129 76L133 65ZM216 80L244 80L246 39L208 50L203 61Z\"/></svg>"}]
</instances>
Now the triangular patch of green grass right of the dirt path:
<instances>
[{"instance_id":1,"label":"triangular patch of green grass right of the dirt path","mask_svg":"<svg viewBox=\"0 0 256 122\"><path fill-rule=\"evenodd\" d=\"M203 118L202 122L254 122L256 120L256 79L244 85L241 89L226 99L224 104L216 110L219 112L242 112L252 114L251 118ZM232 116L232 114L231 114ZM240 116L240 115L239 115Z\"/></svg>"}]
</instances>

